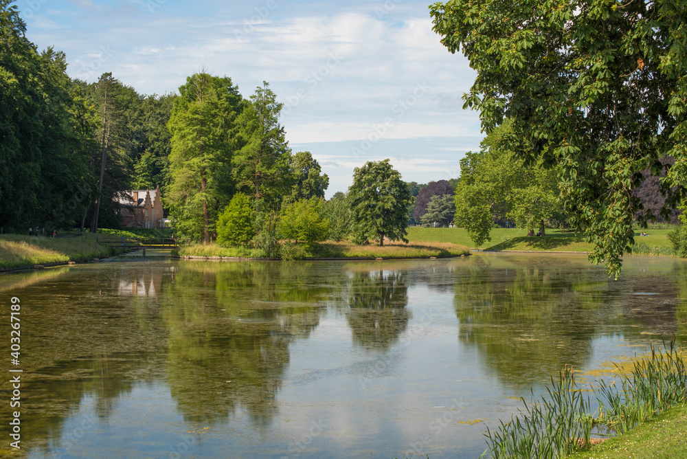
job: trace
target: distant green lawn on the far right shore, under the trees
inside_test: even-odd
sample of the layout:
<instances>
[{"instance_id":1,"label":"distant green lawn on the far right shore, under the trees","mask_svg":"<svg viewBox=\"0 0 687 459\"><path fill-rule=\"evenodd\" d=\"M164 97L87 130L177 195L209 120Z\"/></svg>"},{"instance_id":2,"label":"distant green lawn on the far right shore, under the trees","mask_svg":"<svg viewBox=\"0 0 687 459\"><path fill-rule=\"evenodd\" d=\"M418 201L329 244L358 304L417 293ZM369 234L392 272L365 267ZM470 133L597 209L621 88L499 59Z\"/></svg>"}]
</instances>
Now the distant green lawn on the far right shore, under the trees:
<instances>
[{"instance_id":1,"label":"distant green lawn on the far right shore, under the trees","mask_svg":"<svg viewBox=\"0 0 687 459\"><path fill-rule=\"evenodd\" d=\"M635 231L634 254L674 255L675 252L668 240L671 229L638 229ZM640 236L646 232L649 236ZM527 237L527 230L521 228L495 228L491 230L491 242L477 247L463 228L408 228L409 240L412 243L447 242L484 250L526 250L526 251L592 251L582 234L563 229L547 229L544 237Z\"/></svg>"}]
</instances>

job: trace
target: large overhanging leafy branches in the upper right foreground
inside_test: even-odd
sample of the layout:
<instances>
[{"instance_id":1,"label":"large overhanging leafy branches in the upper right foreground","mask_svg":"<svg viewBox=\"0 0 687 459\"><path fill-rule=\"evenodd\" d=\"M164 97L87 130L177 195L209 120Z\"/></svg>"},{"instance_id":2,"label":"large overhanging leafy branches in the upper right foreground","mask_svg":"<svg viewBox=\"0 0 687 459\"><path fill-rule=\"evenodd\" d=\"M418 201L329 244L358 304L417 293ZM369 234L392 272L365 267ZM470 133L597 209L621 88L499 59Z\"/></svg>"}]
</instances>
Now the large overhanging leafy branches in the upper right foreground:
<instances>
[{"instance_id":1,"label":"large overhanging leafy branches in the upper right foreground","mask_svg":"<svg viewBox=\"0 0 687 459\"><path fill-rule=\"evenodd\" d=\"M633 191L667 168L669 214L687 177L687 8L684 2L450 0L431 5L433 30L477 71L464 96L489 133L513 121L510 149L560 166L570 223L593 262L620 273L641 210ZM640 221L650 219L645 214Z\"/></svg>"}]
</instances>

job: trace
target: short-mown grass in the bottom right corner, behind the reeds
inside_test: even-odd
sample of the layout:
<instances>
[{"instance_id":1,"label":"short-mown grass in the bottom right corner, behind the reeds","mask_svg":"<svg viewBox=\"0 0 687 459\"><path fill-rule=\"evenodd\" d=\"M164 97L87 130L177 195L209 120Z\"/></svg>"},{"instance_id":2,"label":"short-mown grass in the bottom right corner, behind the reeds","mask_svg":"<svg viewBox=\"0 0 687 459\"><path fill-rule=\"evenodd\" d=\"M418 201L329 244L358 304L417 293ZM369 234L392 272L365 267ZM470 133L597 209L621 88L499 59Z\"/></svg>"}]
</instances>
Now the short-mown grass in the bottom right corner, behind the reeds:
<instances>
[{"instance_id":1,"label":"short-mown grass in the bottom right corner, behind the reeds","mask_svg":"<svg viewBox=\"0 0 687 459\"><path fill-rule=\"evenodd\" d=\"M567 459L687 458L687 405Z\"/></svg>"}]
</instances>

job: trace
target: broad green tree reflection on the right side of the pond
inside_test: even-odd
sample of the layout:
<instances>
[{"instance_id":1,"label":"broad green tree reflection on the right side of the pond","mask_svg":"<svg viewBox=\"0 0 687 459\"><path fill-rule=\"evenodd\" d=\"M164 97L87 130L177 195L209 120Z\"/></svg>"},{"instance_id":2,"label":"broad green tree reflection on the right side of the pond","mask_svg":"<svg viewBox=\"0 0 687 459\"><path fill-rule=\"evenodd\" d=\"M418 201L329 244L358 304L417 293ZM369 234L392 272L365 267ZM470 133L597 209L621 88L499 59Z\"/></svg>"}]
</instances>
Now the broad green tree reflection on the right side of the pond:
<instances>
[{"instance_id":1,"label":"broad green tree reflection on the right side of the pond","mask_svg":"<svg viewBox=\"0 0 687 459\"><path fill-rule=\"evenodd\" d=\"M584 258L475 258L456 273L460 340L502 383L529 387L563 365L585 366L600 335L677 333L676 278L670 269L647 273L632 262L614 281Z\"/></svg>"}]
</instances>

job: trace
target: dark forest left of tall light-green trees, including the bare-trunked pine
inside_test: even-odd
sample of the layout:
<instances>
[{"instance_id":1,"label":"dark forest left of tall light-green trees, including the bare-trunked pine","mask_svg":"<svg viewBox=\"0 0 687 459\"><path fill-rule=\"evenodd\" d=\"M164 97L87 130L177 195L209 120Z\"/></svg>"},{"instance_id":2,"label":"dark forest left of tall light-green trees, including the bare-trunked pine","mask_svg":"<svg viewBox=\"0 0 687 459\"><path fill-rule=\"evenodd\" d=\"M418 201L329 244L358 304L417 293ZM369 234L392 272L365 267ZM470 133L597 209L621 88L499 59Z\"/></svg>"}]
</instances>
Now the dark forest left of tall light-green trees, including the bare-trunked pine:
<instances>
[{"instance_id":1,"label":"dark forest left of tall light-green trees, including the bare-trunked pine","mask_svg":"<svg viewBox=\"0 0 687 459\"><path fill-rule=\"evenodd\" d=\"M119 223L122 190L166 186L175 96L144 96L111 74L87 83L67 57L38 52L0 1L0 227Z\"/></svg>"}]
</instances>

